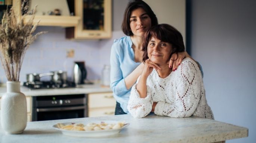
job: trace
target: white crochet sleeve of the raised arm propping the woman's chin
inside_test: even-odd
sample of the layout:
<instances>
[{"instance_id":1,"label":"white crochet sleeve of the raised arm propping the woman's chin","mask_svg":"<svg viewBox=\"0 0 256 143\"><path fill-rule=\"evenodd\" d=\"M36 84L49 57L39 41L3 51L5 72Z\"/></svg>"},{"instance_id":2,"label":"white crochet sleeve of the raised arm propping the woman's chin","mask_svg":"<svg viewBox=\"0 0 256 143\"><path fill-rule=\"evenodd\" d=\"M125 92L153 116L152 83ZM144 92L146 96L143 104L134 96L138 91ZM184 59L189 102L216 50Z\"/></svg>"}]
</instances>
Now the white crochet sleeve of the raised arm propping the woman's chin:
<instances>
[{"instance_id":1,"label":"white crochet sleeve of the raised arm propping the woman's chin","mask_svg":"<svg viewBox=\"0 0 256 143\"><path fill-rule=\"evenodd\" d=\"M147 116L152 110L151 89L147 86L147 96L146 98L141 98L136 86L137 84L132 87L127 108L133 117L142 118Z\"/></svg>"}]
</instances>

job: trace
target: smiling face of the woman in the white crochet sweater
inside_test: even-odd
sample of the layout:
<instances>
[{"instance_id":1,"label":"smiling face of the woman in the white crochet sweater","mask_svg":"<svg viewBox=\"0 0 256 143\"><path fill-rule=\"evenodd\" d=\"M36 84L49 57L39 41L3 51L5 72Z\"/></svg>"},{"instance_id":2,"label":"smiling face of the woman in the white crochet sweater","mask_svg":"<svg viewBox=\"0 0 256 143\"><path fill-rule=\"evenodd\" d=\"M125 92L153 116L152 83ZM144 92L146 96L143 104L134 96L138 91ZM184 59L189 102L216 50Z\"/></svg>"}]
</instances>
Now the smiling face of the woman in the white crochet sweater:
<instances>
[{"instance_id":1,"label":"smiling face of the woman in the white crochet sweater","mask_svg":"<svg viewBox=\"0 0 256 143\"><path fill-rule=\"evenodd\" d=\"M148 58L158 65L166 64L170 59L172 44L162 42L161 40L151 37L148 42Z\"/></svg>"}]
</instances>

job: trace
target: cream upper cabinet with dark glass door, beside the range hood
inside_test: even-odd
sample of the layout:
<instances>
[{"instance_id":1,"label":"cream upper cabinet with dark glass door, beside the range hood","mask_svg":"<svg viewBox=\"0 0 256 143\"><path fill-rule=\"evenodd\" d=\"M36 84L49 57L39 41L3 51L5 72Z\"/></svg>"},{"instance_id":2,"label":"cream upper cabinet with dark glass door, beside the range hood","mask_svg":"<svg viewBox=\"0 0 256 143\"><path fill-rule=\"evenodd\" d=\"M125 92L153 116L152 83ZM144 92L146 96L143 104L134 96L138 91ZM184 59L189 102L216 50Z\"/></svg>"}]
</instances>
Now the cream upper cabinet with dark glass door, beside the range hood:
<instances>
[{"instance_id":1,"label":"cream upper cabinet with dark glass door, beside the range hood","mask_svg":"<svg viewBox=\"0 0 256 143\"><path fill-rule=\"evenodd\" d=\"M66 38L111 38L111 0L75 0L75 15L81 20L77 26L66 28Z\"/></svg>"}]
</instances>

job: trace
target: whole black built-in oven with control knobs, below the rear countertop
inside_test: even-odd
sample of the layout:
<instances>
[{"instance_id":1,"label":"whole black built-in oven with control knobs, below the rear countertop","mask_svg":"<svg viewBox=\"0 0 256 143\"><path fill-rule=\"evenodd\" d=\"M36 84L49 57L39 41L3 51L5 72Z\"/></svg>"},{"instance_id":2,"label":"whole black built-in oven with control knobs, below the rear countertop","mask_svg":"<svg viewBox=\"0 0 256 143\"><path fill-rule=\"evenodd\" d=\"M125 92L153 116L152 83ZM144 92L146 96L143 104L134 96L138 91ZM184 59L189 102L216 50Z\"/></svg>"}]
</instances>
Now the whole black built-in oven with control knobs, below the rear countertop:
<instances>
[{"instance_id":1,"label":"whole black built-in oven with control knobs, below the rear countertop","mask_svg":"<svg viewBox=\"0 0 256 143\"><path fill-rule=\"evenodd\" d=\"M33 97L32 121L88 117L87 94Z\"/></svg>"}]
</instances>

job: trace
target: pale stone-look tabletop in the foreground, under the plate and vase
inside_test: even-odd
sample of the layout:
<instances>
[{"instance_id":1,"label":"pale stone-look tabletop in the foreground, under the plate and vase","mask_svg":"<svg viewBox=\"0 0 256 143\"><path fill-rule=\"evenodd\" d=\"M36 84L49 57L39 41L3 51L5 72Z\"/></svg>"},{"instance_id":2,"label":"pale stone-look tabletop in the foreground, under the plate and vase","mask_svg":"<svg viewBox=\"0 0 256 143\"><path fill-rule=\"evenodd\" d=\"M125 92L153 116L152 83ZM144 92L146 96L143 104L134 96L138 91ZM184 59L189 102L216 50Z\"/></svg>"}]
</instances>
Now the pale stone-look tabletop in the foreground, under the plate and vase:
<instances>
[{"instance_id":1,"label":"pale stone-look tabletop in the foreground, under the plate and vase","mask_svg":"<svg viewBox=\"0 0 256 143\"><path fill-rule=\"evenodd\" d=\"M88 121L126 121L120 133L97 138L65 136L56 123ZM5 134L0 127L1 143L213 143L248 136L248 129L206 118L170 118L151 114L145 118L128 115L28 122L24 133Z\"/></svg>"}]
</instances>

